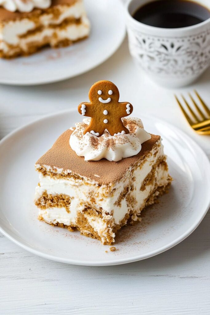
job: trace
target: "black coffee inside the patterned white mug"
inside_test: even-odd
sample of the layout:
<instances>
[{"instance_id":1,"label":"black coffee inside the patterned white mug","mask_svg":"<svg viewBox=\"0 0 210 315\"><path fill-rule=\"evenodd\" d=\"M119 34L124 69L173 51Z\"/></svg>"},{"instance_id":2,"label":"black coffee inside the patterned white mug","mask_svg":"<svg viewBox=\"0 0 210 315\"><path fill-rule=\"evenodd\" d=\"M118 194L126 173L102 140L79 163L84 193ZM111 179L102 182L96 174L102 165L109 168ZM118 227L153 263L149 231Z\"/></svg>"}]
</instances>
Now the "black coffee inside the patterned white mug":
<instances>
[{"instance_id":1,"label":"black coffee inside the patterned white mug","mask_svg":"<svg viewBox=\"0 0 210 315\"><path fill-rule=\"evenodd\" d=\"M209 19L210 11L193 1L158 0L137 9L133 18L150 26L179 28L195 25Z\"/></svg>"}]
</instances>

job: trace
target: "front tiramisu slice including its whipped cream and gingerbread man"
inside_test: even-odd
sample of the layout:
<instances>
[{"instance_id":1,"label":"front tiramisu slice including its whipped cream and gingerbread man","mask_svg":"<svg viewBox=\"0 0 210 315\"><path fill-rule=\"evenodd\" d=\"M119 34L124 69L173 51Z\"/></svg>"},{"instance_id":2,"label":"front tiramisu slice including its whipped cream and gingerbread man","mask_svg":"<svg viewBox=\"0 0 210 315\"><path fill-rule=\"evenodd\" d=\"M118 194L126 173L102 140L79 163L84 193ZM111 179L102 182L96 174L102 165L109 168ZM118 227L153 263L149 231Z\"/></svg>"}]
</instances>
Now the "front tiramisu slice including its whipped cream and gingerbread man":
<instances>
[{"instance_id":1,"label":"front tiramisu slice including its whipped cream and gingerbread man","mask_svg":"<svg viewBox=\"0 0 210 315\"><path fill-rule=\"evenodd\" d=\"M89 93L91 103L79 106L83 116L95 119L97 99L99 116L104 112L108 122L113 106L119 106L119 112L120 106L125 107L124 116L132 112L130 103L116 102L118 90L113 83L99 81L91 89L101 96L93 98ZM92 133L86 130L94 123L85 118L65 131L36 163L39 219L70 231L78 229L103 244L113 243L122 226L140 221L141 211L171 182L160 136L148 134L138 118L122 118L116 128L124 132L118 129L111 135L117 130L109 132L108 122ZM95 135L107 125L101 136Z\"/></svg>"}]
</instances>

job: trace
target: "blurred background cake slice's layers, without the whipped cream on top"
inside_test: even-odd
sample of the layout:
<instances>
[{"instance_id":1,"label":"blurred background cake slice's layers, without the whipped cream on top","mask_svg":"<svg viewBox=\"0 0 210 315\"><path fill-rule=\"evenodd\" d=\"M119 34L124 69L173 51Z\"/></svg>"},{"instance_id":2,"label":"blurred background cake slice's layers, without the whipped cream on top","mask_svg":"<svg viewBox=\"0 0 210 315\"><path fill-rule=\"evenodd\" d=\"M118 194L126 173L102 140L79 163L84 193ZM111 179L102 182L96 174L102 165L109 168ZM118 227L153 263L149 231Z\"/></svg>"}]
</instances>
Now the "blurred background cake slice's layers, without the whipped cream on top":
<instances>
[{"instance_id":1,"label":"blurred background cake slice's layers, without the whipped cream on top","mask_svg":"<svg viewBox=\"0 0 210 315\"><path fill-rule=\"evenodd\" d=\"M45 45L67 46L88 37L89 31L81 0L35 11L30 17L3 22L0 26L0 56L27 55Z\"/></svg>"}]
</instances>

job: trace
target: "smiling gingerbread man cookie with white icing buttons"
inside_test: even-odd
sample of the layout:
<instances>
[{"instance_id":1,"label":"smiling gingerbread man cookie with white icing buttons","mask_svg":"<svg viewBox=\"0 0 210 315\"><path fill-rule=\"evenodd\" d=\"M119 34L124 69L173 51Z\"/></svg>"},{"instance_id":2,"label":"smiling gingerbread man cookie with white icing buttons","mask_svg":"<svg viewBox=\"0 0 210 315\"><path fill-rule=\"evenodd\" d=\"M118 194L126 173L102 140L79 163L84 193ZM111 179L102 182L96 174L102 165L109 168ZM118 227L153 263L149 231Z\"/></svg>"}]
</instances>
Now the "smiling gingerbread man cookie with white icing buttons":
<instances>
[{"instance_id":1,"label":"smiling gingerbread man cookie with white icing buttons","mask_svg":"<svg viewBox=\"0 0 210 315\"><path fill-rule=\"evenodd\" d=\"M107 129L110 135L129 134L121 118L133 112L133 106L128 102L119 102L119 91L110 81L98 81L89 90L90 103L80 103L78 112L91 117L90 124L84 130L84 135L90 132L93 135L103 135Z\"/></svg>"}]
</instances>

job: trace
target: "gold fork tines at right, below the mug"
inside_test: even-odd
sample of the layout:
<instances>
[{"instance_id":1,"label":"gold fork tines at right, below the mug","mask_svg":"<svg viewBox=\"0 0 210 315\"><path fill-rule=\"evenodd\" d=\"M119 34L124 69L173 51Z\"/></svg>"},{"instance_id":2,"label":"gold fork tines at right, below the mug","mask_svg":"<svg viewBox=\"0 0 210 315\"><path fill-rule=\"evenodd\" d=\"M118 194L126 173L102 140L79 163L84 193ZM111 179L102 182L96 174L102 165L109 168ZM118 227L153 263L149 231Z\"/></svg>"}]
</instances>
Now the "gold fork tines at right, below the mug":
<instances>
[{"instance_id":1,"label":"gold fork tines at right, below the mug","mask_svg":"<svg viewBox=\"0 0 210 315\"><path fill-rule=\"evenodd\" d=\"M188 113L184 110L184 107L180 103L178 97L176 95L174 95L174 96L175 96L175 98L177 100L177 103L179 104L179 107L180 107L181 111L183 112L183 114L184 114L185 118L187 119L188 123L190 124L190 126L200 135L210 135L210 110L206 106L204 101L201 99L201 96L198 94L198 92L196 90L194 90L194 92L195 92L197 98L199 99L201 107L202 107L204 112L201 111L201 109L197 105L197 103L194 100L194 98L192 97L192 95L190 93L188 93L188 94L190 96L190 99L191 99L194 107L196 108L196 111L200 115L200 118L192 110L192 108L190 107L189 103L187 102L187 100L184 98L183 95L181 95L182 99L183 99L183 101L184 101L188 111L190 112L191 117L193 117L193 119L191 119L191 117L188 115Z\"/></svg>"}]
</instances>

